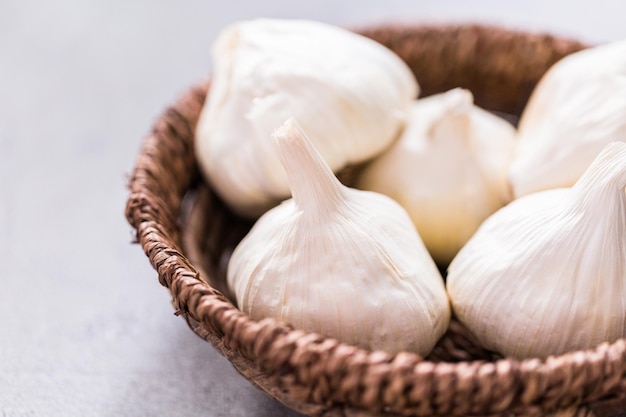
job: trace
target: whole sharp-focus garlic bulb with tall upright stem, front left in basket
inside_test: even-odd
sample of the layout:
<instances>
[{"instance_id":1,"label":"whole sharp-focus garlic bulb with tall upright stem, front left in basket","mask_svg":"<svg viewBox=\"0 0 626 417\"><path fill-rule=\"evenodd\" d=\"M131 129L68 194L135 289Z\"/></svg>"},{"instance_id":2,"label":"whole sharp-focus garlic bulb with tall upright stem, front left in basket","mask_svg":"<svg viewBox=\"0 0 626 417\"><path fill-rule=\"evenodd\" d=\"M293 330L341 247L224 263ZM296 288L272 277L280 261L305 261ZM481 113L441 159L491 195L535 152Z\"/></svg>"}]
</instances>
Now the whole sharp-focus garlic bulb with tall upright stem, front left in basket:
<instances>
[{"instance_id":1,"label":"whole sharp-focus garlic bulb with tall upright stem, front left in basket","mask_svg":"<svg viewBox=\"0 0 626 417\"><path fill-rule=\"evenodd\" d=\"M294 119L273 137L293 198L233 252L228 284L239 308L365 349L427 355L450 307L404 209L342 185Z\"/></svg>"}]
</instances>

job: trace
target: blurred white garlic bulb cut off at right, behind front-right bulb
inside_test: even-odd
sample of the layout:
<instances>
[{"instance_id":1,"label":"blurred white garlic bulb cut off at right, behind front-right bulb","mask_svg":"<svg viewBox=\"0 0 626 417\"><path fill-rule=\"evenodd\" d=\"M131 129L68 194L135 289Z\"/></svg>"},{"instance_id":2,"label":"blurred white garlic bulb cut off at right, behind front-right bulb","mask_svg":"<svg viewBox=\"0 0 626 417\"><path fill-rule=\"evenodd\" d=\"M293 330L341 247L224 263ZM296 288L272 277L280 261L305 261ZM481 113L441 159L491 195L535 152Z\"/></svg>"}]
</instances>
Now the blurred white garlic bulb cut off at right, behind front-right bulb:
<instances>
[{"instance_id":1,"label":"blurred white garlic bulb cut off at right, behind front-right bulb","mask_svg":"<svg viewBox=\"0 0 626 417\"><path fill-rule=\"evenodd\" d=\"M610 142L626 138L626 40L565 57L541 79L518 126L515 197L572 186Z\"/></svg>"}]
</instances>

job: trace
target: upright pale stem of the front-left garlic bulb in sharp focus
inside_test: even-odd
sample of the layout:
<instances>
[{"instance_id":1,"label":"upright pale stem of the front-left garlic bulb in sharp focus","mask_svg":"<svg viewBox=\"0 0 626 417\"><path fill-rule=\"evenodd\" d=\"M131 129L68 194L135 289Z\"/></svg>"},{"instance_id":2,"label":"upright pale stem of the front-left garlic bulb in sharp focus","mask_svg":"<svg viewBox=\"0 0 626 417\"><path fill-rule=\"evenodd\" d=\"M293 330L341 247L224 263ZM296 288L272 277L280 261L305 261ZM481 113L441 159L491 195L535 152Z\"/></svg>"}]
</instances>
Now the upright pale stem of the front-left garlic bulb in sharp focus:
<instances>
[{"instance_id":1,"label":"upright pale stem of the front-left garlic bulb in sharp focus","mask_svg":"<svg viewBox=\"0 0 626 417\"><path fill-rule=\"evenodd\" d=\"M287 173L293 200L305 214L320 216L344 201L343 187L311 140L293 118L272 133L280 161Z\"/></svg>"}]
</instances>

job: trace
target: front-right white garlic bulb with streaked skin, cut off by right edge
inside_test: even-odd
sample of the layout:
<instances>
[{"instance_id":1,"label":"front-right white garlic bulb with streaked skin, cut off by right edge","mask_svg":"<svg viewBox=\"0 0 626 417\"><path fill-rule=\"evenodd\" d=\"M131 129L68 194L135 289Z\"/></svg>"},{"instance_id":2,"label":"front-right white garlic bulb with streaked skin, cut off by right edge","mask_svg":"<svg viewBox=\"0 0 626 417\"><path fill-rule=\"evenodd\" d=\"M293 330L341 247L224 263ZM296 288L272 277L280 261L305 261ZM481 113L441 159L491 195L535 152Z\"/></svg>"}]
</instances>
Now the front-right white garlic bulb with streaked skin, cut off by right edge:
<instances>
[{"instance_id":1,"label":"front-right white garlic bulb with streaked skin, cut off by right edge","mask_svg":"<svg viewBox=\"0 0 626 417\"><path fill-rule=\"evenodd\" d=\"M572 188L529 194L487 219L452 261L453 311L485 347L515 358L626 335L626 144Z\"/></svg>"}]
</instances>

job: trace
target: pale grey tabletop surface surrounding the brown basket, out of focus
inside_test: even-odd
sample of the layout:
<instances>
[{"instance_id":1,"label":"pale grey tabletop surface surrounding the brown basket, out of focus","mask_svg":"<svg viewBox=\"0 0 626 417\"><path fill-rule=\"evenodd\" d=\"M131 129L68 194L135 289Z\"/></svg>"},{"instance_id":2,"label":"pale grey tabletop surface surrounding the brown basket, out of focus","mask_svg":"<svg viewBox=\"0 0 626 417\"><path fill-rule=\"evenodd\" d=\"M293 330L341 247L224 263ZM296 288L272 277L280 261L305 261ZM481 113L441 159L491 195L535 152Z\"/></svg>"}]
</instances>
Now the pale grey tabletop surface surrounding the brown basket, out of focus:
<instances>
[{"instance_id":1,"label":"pale grey tabletop surface surrounding the brown basket, out of focus","mask_svg":"<svg viewBox=\"0 0 626 417\"><path fill-rule=\"evenodd\" d=\"M596 0L0 1L0 416L296 416L173 315L123 211L159 112L228 23L463 21L626 38Z\"/></svg>"}]
</instances>

